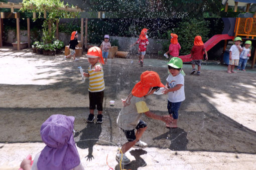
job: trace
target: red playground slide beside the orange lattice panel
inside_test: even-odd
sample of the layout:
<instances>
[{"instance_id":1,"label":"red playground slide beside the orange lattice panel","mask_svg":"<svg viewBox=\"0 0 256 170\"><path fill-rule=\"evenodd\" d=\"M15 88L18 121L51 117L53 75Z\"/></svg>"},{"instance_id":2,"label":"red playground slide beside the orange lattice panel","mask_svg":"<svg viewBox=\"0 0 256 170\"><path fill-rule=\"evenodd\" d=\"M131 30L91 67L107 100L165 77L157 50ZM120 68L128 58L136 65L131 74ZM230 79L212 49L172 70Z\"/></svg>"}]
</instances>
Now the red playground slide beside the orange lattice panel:
<instances>
[{"instance_id":1,"label":"red playground slide beside the orange lattice panel","mask_svg":"<svg viewBox=\"0 0 256 170\"><path fill-rule=\"evenodd\" d=\"M219 41L225 40L225 39L233 39L234 36L229 36L228 34L216 34L212 36L210 39L208 39L204 46L206 48L206 51L210 50L214 45L216 45ZM183 62L190 62L192 58L190 58L191 53L188 55L180 55L179 57L182 59Z\"/></svg>"}]
</instances>

